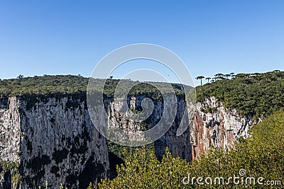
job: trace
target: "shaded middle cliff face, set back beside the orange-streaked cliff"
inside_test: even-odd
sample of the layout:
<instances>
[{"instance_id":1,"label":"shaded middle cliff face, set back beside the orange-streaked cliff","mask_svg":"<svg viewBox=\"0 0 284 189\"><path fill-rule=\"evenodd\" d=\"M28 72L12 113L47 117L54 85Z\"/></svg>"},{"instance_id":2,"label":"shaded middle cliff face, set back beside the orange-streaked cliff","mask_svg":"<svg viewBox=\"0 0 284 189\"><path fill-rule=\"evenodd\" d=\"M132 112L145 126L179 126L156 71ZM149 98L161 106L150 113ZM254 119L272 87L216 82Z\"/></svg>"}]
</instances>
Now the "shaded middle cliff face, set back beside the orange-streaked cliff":
<instances>
[{"instance_id":1,"label":"shaded middle cliff face, set back beside the orange-streaked cliff","mask_svg":"<svg viewBox=\"0 0 284 189\"><path fill-rule=\"evenodd\" d=\"M147 96L131 96L127 99L127 103L129 104L129 108L133 110L139 110L141 108L141 103L143 99ZM176 98L176 97L174 97ZM168 132L165 132L162 137L154 142L155 145L155 154L158 159L161 159L163 154L165 153L165 148L168 147L173 154L173 156L180 156L182 159L187 159L190 161L191 157L191 144L190 144L190 130L188 126L188 118L182 119L182 116L185 113L185 117L188 116L187 111L187 103L185 102L185 98L176 98L176 99L168 99L169 103L173 103L177 101L177 112L175 114L175 118L172 120L170 118L170 113L167 113L165 110L165 105L163 101L153 101L153 113L147 118L144 122L137 123L132 120L127 120L126 114L120 113L116 110L116 104L114 101L109 102L109 121L111 125L116 125L116 127L121 127L124 130L129 130L129 132L135 132L136 130L145 130L150 129L157 125L160 119L164 116L166 123L172 123ZM182 122L183 121L183 122ZM187 130L183 132L180 136L177 135L178 128L180 124L185 125Z\"/></svg>"}]
</instances>

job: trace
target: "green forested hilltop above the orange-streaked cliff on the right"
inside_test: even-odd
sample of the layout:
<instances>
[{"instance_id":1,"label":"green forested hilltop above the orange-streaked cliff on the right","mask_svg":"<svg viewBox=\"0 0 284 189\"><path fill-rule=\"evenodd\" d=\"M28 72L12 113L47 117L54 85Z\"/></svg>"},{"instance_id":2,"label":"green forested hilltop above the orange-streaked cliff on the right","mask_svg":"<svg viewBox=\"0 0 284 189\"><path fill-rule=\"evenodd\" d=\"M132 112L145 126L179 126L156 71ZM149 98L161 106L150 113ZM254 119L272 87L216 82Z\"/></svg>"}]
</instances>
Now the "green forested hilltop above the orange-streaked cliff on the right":
<instances>
[{"instance_id":1,"label":"green forested hilltop above the orange-streaked cliff on the right","mask_svg":"<svg viewBox=\"0 0 284 189\"><path fill-rule=\"evenodd\" d=\"M284 108L284 71L265 74L236 74L234 79L217 80L197 87L197 101L215 96L240 115L266 118Z\"/></svg>"}]
</instances>

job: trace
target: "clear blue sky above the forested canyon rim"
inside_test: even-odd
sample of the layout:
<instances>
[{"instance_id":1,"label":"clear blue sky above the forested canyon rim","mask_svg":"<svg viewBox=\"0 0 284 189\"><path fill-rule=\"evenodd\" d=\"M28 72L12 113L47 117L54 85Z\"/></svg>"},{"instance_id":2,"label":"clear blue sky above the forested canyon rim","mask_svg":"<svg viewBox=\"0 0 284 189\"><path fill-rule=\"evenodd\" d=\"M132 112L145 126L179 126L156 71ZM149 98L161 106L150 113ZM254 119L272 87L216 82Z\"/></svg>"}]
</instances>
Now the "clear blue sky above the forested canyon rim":
<instances>
[{"instance_id":1,"label":"clear blue sky above the forested canyon rim","mask_svg":"<svg viewBox=\"0 0 284 189\"><path fill-rule=\"evenodd\" d=\"M281 0L0 1L0 78L90 76L137 42L172 50L192 77L283 70L283 10Z\"/></svg>"}]
</instances>

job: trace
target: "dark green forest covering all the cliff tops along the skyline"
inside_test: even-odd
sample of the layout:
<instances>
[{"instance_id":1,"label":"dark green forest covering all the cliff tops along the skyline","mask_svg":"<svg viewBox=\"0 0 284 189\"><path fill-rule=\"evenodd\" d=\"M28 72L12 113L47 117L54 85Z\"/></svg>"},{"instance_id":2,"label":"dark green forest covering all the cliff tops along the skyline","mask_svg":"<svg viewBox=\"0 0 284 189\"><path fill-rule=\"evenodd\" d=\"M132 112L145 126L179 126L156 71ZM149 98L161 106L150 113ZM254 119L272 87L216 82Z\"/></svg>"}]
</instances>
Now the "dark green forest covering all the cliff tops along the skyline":
<instances>
[{"instance_id":1,"label":"dark green forest covering all the cliff tops along the skyline","mask_svg":"<svg viewBox=\"0 0 284 189\"><path fill-rule=\"evenodd\" d=\"M265 118L276 110L284 107L284 71L270 71L263 74L236 74L229 79L222 74L207 81L203 86L197 86L197 101L204 102L206 98L215 96L228 109L236 109L240 115L251 115L256 118ZM21 77L21 78L20 78ZM119 79L93 79L94 90L104 85L104 95L114 96ZM44 75L5 79L0 81L1 96L66 96L80 93L85 96L89 78L73 75ZM124 85L138 84L131 88L129 95L146 95L160 99L161 93L150 84L138 84L138 81L125 80ZM159 88L165 88L165 83L155 82ZM184 96L180 84L171 84L175 93ZM206 112L213 112L214 108L205 108Z\"/></svg>"}]
</instances>

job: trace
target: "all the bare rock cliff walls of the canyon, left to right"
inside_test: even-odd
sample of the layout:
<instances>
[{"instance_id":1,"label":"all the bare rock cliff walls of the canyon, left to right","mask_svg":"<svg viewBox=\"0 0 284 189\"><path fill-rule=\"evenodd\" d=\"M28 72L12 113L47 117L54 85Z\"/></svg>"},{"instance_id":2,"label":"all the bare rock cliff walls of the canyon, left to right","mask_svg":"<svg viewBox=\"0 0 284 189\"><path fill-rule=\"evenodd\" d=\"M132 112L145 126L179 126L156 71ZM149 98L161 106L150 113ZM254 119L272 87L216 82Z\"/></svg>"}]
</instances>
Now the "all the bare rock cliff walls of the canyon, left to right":
<instances>
[{"instance_id":1,"label":"all the bare rock cliff walls of the canyon, left to right","mask_svg":"<svg viewBox=\"0 0 284 189\"><path fill-rule=\"evenodd\" d=\"M136 110L143 98L146 96L129 96L127 103ZM243 118L236 110L227 110L213 96L195 104L180 96L176 100L173 124L154 142L159 159L166 147L173 156L191 161L210 147L226 149L249 136L251 117ZM16 164L18 171L2 171L1 175L3 181L11 180L5 182L11 183L13 189L44 187L45 181L50 188L58 188L60 183L67 188L87 188L90 182L109 176L107 139L89 116L84 92L11 96L5 101L0 104L1 162ZM164 110L162 101L153 101L153 113L141 125L126 121L126 115L116 110L113 98L107 99L106 107L109 121L129 130L155 126ZM184 132L179 134L180 125Z\"/></svg>"}]
</instances>

